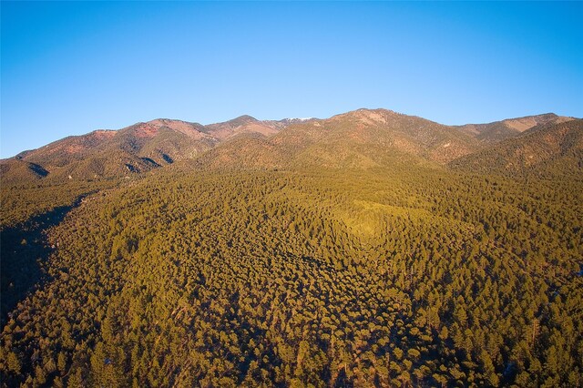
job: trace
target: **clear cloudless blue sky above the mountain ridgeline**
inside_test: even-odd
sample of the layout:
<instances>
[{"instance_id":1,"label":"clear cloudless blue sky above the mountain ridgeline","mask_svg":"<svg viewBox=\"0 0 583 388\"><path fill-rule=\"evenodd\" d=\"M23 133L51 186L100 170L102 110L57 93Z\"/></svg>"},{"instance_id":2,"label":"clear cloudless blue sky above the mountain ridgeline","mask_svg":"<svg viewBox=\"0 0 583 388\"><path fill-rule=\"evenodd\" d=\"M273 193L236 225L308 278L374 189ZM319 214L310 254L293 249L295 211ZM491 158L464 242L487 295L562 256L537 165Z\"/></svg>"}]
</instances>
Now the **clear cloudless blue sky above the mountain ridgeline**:
<instances>
[{"instance_id":1,"label":"clear cloudless blue sky above the mountain ridgeline","mask_svg":"<svg viewBox=\"0 0 583 388\"><path fill-rule=\"evenodd\" d=\"M0 157L156 117L583 116L583 3L2 2Z\"/></svg>"}]
</instances>

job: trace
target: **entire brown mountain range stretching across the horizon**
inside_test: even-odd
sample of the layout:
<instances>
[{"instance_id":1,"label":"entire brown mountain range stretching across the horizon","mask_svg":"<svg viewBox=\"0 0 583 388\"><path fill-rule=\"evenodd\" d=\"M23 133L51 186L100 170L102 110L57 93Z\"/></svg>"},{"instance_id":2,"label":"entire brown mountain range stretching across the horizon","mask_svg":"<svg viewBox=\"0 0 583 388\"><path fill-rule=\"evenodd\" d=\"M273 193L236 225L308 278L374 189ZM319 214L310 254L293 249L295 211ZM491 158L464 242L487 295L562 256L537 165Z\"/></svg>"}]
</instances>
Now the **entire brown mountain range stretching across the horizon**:
<instances>
[{"instance_id":1,"label":"entire brown mountain range stretching across the horizon","mask_svg":"<svg viewBox=\"0 0 583 388\"><path fill-rule=\"evenodd\" d=\"M183 161L196 168L450 166L502 174L544 164L580 170L583 120L553 113L445 126L387 109L325 119L241 116L203 126L159 118L95 130L0 162L5 183L107 179ZM563 168L564 169L564 168Z\"/></svg>"}]
</instances>

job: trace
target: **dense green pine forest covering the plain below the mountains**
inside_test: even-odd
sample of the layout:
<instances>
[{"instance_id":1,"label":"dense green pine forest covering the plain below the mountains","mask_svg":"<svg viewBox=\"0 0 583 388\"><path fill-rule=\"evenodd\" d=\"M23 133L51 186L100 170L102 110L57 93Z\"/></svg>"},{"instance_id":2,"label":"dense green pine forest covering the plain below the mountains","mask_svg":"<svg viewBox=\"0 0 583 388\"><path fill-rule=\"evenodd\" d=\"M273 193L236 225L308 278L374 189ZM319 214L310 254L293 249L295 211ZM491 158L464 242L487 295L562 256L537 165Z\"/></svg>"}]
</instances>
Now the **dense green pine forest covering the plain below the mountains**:
<instances>
[{"instance_id":1,"label":"dense green pine forest covering the plain below the mountains","mask_svg":"<svg viewBox=\"0 0 583 388\"><path fill-rule=\"evenodd\" d=\"M264 154L305 126L243 140ZM462 140L484 149L443 141ZM2 385L583 385L581 148L542 174L496 169L494 148L472 169L442 143L401 162L359 143L335 165L293 144L305 167L219 146L5 183Z\"/></svg>"}]
</instances>

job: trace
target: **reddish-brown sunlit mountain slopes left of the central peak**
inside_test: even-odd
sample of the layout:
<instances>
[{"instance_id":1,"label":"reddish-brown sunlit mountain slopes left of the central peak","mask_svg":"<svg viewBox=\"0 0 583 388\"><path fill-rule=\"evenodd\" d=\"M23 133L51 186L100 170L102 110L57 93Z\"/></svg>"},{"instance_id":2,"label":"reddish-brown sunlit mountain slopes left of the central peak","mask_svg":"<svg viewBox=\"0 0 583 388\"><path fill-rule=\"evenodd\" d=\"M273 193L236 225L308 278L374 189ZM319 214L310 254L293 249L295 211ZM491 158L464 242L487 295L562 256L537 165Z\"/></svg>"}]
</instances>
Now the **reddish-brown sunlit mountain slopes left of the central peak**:
<instances>
[{"instance_id":1,"label":"reddish-brown sunlit mountain slopes left of the central peak","mask_svg":"<svg viewBox=\"0 0 583 388\"><path fill-rule=\"evenodd\" d=\"M292 122L292 121L290 121ZM119 130L97 130L63 138L45 147L23 152L0 163L7 184L46 179L123 178L196 158L221 141L248 134L271 136L288 121L259 121L238 117L202 126L159 118ZM70 177L70 178L69 178Z\"/></svg>"}]
</instances>

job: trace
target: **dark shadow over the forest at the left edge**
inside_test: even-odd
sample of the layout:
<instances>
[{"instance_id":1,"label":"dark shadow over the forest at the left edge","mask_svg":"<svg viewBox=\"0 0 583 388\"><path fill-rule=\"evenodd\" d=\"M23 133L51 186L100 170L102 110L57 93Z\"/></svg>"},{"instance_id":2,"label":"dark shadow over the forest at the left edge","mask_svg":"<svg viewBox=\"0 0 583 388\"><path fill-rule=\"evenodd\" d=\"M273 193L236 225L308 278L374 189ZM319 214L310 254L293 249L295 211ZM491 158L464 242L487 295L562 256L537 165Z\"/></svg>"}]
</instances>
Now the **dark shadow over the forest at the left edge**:
<instances>
[{"instance_id":1,"label":"dark shadow over the forest at the left edge","mask_svg":"<svg viewBox=\"0 0 583 388\"><path fill-rule=\"evenodd\" d=\"M4 329L8 312L13 311L37 284L46 280L41 263L48 259L52 249L45 231L60 223L86 196L0 231L0 330Z\"/></svg>"}]
</instances>

